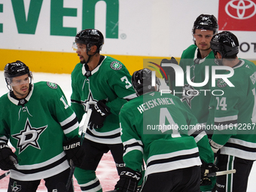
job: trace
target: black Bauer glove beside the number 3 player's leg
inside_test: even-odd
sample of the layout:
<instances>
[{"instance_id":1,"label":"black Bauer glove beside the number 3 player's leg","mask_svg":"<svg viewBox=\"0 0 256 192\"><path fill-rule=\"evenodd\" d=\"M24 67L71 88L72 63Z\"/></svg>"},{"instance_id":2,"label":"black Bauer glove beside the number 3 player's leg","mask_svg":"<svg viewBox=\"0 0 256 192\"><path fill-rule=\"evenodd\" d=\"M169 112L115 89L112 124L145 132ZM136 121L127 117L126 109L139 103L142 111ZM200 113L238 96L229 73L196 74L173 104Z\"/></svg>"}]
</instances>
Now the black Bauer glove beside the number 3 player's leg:
<instances>
[{"instance_id":1,"label":"black Bauer glove beside the number 3 player's leg","mask_svg":"<svg viewBox=\"0 0 256 192\"><path fill-rule=\"evenodd\" d=\"M75 166L81 166L84 150L81 148L81 138L75 137L63 143L68 160L72 160Z\"/></svg>"}]
</instances>

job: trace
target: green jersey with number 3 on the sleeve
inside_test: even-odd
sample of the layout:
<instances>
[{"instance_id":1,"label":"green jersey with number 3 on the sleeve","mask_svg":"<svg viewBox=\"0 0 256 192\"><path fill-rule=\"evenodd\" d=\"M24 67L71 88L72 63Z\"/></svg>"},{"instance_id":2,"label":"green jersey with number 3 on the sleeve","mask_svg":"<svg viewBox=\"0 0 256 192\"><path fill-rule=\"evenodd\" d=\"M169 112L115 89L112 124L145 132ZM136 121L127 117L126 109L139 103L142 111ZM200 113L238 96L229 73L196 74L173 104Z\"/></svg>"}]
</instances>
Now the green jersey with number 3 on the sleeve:
<instances>
[{"instance_id":1,"label":"green jersey with number 3 on the sleeve","mask_svg":"<svg viewBox=\"0 0 256 192\"><path fill-rule=\"evenodd\" d=\"M119 112L127 100L136 97L131 84L131 75L120 61L110 56L101 56L100 63L92 72L87 64L78 63L72 72L72 108L80 122L90 104L104 99L111 109L104 126L87 129L85 138L99 143L120 143Z\"/></svg>"}]
</instances>

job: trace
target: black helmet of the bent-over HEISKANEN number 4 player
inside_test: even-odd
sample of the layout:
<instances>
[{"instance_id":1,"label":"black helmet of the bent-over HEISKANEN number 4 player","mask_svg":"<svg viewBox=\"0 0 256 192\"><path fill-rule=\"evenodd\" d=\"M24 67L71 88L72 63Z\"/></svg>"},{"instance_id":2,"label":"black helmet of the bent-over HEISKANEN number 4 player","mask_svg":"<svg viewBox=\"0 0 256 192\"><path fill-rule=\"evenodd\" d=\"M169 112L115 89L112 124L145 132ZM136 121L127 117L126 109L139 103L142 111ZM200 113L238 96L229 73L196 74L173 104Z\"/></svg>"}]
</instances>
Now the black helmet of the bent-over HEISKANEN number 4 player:
<instances>
[{"instance_id":1,"label":"black helmet of the bent-over HEISKANEN number 4 player","mask_svg":"<svg viewBox=\"0 0 256 192\"><path fill-rule=\"evenodd\" d=\"M152 87L152 71L148 68L134 72L132 77L132 84L137 96L141 96L143 93L155 91L155 87ZM160 80L157 77L156 86L157 89L159 89Z\"/></svg>"}]
</instances>

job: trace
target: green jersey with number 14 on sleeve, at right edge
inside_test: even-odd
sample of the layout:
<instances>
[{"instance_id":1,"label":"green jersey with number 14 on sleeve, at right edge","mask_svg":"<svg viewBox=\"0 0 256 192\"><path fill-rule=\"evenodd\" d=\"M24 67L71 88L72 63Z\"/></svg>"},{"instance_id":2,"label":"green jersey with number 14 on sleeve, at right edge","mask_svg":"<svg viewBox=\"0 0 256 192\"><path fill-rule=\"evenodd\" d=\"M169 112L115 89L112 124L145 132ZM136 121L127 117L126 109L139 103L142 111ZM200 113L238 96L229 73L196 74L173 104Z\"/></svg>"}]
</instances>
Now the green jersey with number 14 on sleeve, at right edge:
<instances>
[{"instance_id":1,"label":"green jersey with number 14 on sleeve, at right edge","mask_svg":"<svg viewBox=\"0 0 256 192\"><path fill-rule=\"evenodd\" d=\"M212 141L228 154L246 160L256 160L256 66L245 59L233 67L228 80L216 80L221 96L212 96L210 106L215 109L215 130Z\"/></svg>"}]
</instances>

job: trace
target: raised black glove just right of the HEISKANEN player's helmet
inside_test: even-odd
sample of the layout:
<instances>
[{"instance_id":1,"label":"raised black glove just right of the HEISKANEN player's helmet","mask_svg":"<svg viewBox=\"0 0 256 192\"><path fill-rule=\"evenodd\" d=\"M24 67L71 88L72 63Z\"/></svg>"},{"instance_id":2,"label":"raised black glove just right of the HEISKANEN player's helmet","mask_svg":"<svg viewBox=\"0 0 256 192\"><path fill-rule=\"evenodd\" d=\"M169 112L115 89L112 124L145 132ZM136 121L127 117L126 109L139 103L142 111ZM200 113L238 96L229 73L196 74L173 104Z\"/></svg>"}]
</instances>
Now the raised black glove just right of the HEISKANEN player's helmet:
<instances>
[{"instance_id":1,"label":"raised black glove just right of the HEISKANEN player's helmet","mask_svg":"<svg viewBox=\"0 0 256 192\"><path fill-rule=\"evenodd\" d=\"M175 80L175 71L171 66L163 66L163 63L171 63L171 64L176 64L178 65L178 61L172 56L171 59L163 59L161 61L160 66L163 68L163 71L166 72L166 75L164 75L164 73L162 72L162 70L160 70L161 75L164 78L164 81L166 81L166 84L169 84L169 80L170 81L174 81ZM168 79L169 76L169 79Z\"/></svg>"}]
</instances>

